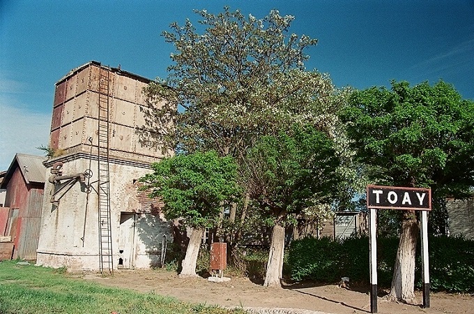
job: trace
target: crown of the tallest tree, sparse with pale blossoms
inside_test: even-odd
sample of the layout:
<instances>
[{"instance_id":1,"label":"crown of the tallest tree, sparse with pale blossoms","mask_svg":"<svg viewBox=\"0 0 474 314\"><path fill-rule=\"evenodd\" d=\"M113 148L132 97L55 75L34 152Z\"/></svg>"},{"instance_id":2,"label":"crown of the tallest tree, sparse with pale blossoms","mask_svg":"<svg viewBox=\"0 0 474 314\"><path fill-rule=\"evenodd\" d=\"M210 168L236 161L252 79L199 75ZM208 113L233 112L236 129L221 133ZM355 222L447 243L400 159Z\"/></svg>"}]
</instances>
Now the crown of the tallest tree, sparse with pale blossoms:
<instances>
[{"instance_id":1,"label":"crown of the tallest tree, sparse with pale blossoms","mask_svg":"<svg viewBox=\"0 0 474 314\"><path fill-rule=\"evenodd\" d=\"M165 102L147 112L148 130L158 127L165 149L240 159L257 137L284 126L334 124L340 93L327 75L305 70L305 49L317 40L289 34L292 16L195 13L201 27L186 20L163 33L174 63L167 80L145 90L151 105Z\"/></svg>"}]
</instances>

